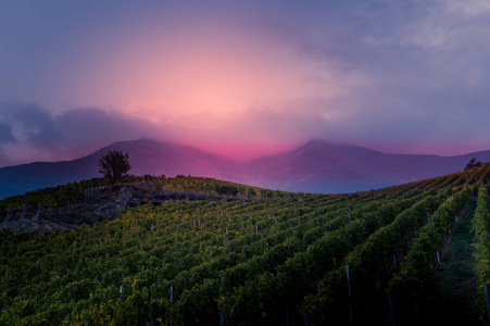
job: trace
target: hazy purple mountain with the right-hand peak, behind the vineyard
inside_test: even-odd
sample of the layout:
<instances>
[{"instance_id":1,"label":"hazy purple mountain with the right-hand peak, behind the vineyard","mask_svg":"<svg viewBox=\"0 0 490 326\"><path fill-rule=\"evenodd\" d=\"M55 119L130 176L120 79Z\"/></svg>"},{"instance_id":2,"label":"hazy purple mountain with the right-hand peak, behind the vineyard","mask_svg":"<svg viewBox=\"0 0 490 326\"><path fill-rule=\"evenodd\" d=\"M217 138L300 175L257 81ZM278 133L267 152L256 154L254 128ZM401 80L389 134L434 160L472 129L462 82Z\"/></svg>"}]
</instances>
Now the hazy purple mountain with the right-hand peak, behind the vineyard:
<instances>
[{"instance_id":1,"label":"hazy purple mountain with the right-hand peak, behind the vineyard","mask_svg":"<svg viewBox=\"0 0 490 326\"><path fill-rule=\"evenodd\" d=\"M252 181L292 191L352 192L381 188L463 170L477 158L490 161L490 151L457 156L386 154L352 145L312 140L275 156L250 163Z\"/></svg>"}]
</instances>

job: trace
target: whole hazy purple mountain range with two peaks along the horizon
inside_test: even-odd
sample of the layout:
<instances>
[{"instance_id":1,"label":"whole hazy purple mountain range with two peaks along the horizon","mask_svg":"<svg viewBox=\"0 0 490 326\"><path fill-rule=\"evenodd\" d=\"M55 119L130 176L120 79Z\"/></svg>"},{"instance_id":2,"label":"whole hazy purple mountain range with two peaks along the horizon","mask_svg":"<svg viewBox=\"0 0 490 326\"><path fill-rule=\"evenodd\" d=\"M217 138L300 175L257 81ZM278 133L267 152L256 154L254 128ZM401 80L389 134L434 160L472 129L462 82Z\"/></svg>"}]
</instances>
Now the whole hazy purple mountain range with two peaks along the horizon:
<instances>
[{"instance_id":1,"label":"whole hazy purple mountain range with two peaks along the horizon","mask_svg":"<svg viewBox=\"0 0 490 326\"><path fill-rule=\"evenodd\" d=\"M0 198L98 177L98 160L111 150L129 154L130 174L205 176L269 189L303 192L355 192L461 171L490 150L455 156L387 154L372 149L312 140L291 151L247 163L184 145L149 139L120 141L87 156L0 168Z\"/></svg>"}]
</instances>

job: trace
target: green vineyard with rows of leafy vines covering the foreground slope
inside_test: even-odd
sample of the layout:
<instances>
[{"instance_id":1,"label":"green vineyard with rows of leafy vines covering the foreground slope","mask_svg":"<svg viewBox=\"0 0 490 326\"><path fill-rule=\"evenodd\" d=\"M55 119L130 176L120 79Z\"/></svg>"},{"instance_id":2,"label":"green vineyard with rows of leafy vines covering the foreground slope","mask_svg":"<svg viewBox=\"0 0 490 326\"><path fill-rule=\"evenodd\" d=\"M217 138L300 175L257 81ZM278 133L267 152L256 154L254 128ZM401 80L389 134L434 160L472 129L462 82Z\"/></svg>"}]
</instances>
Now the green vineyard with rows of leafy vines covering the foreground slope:
<instances>
[{"instance_id":1,"label":"green vineyard with rows of leafy vines covering the foreground slope","mask_svg":"<svg viewBox=\"0 0 490 326\"><path fill-rule=\"evenodd\" d=\"M43 235L2 229L0 324L417 324L442 247L472 199L485 322L489 180L483 165L323 196L180 177L179 190L226 196L145 204ZM164 181L155 179L176 189Z\"/></svg>"}]
</instances>

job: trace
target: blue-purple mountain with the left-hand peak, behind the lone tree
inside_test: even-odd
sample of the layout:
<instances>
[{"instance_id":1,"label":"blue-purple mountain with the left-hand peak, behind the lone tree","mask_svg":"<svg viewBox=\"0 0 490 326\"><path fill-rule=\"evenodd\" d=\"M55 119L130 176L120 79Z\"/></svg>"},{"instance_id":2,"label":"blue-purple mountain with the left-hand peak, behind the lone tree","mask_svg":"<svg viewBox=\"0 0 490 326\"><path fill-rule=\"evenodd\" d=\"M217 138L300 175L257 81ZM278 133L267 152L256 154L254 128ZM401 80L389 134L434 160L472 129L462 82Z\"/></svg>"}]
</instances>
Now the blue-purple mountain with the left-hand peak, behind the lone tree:
<instances>
[{"instance_id":1,"label":"blue-purple mountain with the left-hand peak, behind the lone tree","mask_svg":"<svg viewBox=\"0 0 490 326\"><path fill-rule=\"evenodd\" d=\"M0 198L25 191L99 177L98 160L112 150L129 153L135 175L177 174L224 178L233 176L235 162L191 147L148 139L120 141L97 152L65 162L36 162L0 168Z\"/></svg>"}]
</instances>

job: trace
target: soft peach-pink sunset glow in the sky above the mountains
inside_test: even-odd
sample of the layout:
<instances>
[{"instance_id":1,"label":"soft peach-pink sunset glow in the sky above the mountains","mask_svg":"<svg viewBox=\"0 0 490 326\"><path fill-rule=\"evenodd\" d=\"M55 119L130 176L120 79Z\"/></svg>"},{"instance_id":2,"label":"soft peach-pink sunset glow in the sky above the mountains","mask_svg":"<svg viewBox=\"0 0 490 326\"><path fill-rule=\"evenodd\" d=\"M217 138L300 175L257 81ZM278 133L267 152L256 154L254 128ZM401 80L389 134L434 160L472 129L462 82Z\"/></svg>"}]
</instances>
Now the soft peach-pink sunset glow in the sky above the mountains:
<instances>
[{"instance_id":1,"label":"soft peach-pink sunset glow in the sky above the mountains","mask_svg":"<svg viewBox=\"0 0 490 326\"><path fill-rule=\"evenodd\" d=\"M117 42L111 49L117 59L89 70L80 87L95 95L90 101L97 106L175 125L184 131L179 138L211 139L225 135L242 139L246 135L229 135L229 127L244 123L251 112L280 110L277 106L289 101L340 91L329 84L328 71L299 61L293 49L281 49L266 37L252 37L246 26L234 25L181 28L176 32L178 41L164 35L158 40ZM322 93L317 83L309 83L314 78L323 79ZM251 131L252 140L255 133L263 138L260 130Z\"/></svg>"}]
</instances>

